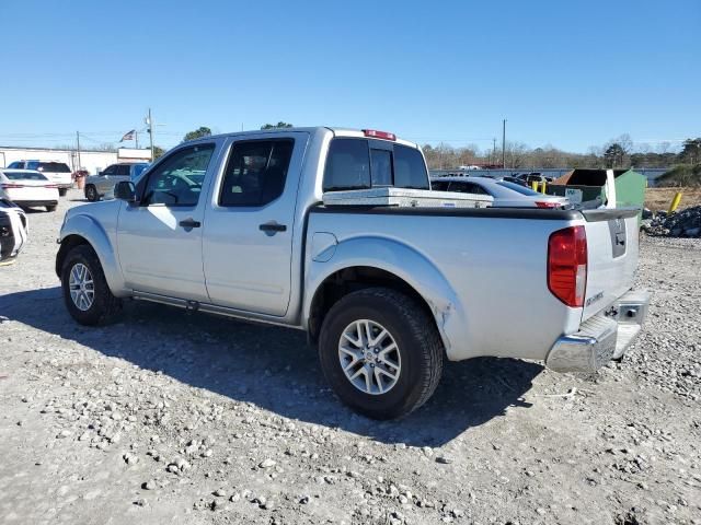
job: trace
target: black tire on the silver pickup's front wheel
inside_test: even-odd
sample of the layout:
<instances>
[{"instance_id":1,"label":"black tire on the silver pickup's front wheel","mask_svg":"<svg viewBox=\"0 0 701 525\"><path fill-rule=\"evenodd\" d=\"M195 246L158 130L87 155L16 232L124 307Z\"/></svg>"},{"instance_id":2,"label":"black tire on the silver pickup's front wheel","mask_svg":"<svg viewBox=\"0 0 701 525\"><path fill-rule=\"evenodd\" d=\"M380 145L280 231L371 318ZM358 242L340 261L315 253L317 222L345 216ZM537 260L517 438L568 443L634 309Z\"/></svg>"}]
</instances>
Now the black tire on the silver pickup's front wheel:
<instances>
[{"instance_id":1,"label":"black tire on the silver pickup's front wheel","mask_svg":"<svg viewBox=\"0 0 701 525\"><path fill-rule=\"evenodd\" d=\"M71 271L76 271L76 275L80 276L82 268L88 270L88 273L84 273L85 277L92 277L92 302L88 300L91 291L90 284L84 288L87 292L82 294L84 301L71 296ZM106 324L122 310L122 301L112 294L97 255L88 245L76 246L66 255L61 268L61 289L68 313L81 325Z\"/></svg>"}]
</instances>

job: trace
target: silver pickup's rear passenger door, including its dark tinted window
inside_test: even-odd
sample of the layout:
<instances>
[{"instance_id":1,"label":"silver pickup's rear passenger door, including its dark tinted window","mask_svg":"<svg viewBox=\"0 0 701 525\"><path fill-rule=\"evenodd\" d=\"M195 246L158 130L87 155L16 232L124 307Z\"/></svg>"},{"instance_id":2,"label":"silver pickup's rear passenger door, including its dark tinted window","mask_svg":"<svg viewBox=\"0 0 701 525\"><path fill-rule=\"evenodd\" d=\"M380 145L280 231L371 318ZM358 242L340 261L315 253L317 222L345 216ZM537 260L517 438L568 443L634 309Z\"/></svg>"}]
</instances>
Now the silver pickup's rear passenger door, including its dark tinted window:
<instances>
[{"instance_id":1,"label":"silver pickup's rear passenger door, including its dark tinted window","mask_svg":"<svg viewBox=\"0 0 701 525\"><path fill-rule=\"evenodd\" d=\"M284 316L291 285L297 189L309 133L232 137L205 214L211 302Z\"/></svg>"}]
</instances>

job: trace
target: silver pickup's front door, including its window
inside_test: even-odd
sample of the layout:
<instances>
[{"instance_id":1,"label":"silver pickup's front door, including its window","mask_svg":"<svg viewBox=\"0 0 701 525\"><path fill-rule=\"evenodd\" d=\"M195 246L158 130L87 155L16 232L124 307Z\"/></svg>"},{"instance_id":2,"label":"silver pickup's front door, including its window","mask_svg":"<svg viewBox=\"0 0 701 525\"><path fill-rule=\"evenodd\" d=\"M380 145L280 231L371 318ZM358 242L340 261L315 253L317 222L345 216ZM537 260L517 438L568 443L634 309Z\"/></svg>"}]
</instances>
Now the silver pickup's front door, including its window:
<instances>
[{"instance_id":1,"label":"silver pickup's front door, including its window","mask_svg":"<svg viewBox=\"0 0 701 525\"><path fill-rule=\"evenodd\" d=\"M198 143L169 153L139 180L138 205L123 202L117 247L133 290L208 301L202 223L217 145Z\"/></svg>"}]
</instances>

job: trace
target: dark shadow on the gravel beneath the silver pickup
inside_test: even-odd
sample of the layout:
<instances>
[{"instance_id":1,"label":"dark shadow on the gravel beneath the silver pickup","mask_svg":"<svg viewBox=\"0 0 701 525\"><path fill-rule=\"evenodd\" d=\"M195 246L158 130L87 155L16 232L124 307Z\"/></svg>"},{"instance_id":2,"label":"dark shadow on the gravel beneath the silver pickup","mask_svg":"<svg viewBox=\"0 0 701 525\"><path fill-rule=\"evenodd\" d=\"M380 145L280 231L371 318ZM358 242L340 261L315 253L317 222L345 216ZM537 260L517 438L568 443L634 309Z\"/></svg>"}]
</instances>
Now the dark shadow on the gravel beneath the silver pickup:
<instances>
[{"instance_id":1,"label":"dark shadow on the gravel beneath the silver pickup","mask_svg":"<svg viewBox=\"0 0 701 525\"><path fill-rule=\"evenodd\" d=\"M503 416L508 407L528 407L521 397L542 370L515 359L447 363L424 407L403 420L378 422L355 415L335 398L301 331L137 302L127 302L117 323L88 328L68 315L59 287L2 295L0 312L104 355L285 418L412 446L443 445Z\"/></svg>"}]
</instances>

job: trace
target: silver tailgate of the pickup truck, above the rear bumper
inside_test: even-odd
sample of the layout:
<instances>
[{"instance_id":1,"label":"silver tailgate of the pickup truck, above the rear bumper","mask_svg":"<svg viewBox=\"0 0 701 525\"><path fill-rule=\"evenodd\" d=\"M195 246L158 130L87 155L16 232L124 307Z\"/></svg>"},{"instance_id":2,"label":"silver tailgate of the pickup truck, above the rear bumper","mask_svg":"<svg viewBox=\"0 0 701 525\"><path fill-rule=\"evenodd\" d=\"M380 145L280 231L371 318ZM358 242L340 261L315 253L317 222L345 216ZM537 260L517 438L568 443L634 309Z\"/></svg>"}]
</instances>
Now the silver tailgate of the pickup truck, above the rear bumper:
<instances>
[{"instance_id":1,"label":"silver tailgate of the pickup truck, above the rear bumper","mask_svg":"<svg viewBox=\"0 0 701 525\"><path fill-rule=\"evenodd\" d=\"M588 271L582 320L633 285L637 268L637 209L582 211L587 232Z\"/></svg>"}]
</instances>

